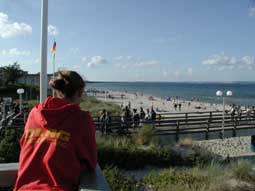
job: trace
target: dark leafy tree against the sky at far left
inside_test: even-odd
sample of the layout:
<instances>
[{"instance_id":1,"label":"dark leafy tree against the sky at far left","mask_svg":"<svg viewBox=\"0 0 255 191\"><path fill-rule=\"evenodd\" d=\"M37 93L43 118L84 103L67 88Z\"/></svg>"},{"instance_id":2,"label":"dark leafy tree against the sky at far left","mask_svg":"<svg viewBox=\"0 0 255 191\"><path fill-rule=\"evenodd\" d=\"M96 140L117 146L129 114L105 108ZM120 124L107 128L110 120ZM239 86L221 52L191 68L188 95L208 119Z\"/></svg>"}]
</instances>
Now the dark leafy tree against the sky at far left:
<instances>
[{"instance_id":1,"label":"dark leafy tree against the sky at far left","mask_svg":"<svg viewBox=\"0 0 255 191\"><path fill-rule=\"evenodd\" d=\"M5 86L9 83L15 84L18 78L24 75L24 71L20 69L20 65L17 62L12 65L4 66L2 70L4 74L3 83Z\"/></svg>"}]
</instances>

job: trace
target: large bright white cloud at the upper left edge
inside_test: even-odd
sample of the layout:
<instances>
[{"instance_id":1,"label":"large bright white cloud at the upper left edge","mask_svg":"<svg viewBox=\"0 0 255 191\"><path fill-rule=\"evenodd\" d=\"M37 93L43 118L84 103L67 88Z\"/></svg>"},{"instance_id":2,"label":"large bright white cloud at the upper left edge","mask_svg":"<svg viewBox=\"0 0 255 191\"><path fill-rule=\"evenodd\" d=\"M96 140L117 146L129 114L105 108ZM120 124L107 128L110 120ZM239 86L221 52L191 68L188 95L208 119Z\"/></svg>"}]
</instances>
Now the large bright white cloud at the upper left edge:
<instances>
[{"instance_id":1,"label":"large bright white cloud at the upper left edge","mask_svg":"<svg viewBox=\"0 0 255 191\"><path fill-rule=\"evenodd\" d=\"M11 38L19 35L29 35L32 33L32 27L26 23L9 21L8 15L0 12L0 38Z\"/></svg>"}]
</instances>

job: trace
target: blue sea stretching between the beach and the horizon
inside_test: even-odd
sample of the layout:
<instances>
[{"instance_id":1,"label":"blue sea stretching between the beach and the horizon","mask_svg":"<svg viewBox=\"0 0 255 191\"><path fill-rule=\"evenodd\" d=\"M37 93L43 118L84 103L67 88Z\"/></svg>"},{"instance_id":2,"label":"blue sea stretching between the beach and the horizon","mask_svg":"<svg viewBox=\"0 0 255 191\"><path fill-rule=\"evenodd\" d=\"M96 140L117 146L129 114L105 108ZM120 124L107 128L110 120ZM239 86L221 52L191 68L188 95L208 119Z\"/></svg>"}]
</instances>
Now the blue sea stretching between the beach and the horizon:
<instances>
[{"instance_id":1,"label":"blue sea stretching between the beach and the horizon","mask_svg":"<svg viewBox=\"0 0 255 191\"><path fill-rule=\"evenodd\" d=\"M255 82L88 82L86 89L143 93L162 99L176 98L198 100L206 103L222 103L216 96L221 90L226 104L255 106ZM232 91L231 97L226 96Z\"/></svg>"}]
</instances>

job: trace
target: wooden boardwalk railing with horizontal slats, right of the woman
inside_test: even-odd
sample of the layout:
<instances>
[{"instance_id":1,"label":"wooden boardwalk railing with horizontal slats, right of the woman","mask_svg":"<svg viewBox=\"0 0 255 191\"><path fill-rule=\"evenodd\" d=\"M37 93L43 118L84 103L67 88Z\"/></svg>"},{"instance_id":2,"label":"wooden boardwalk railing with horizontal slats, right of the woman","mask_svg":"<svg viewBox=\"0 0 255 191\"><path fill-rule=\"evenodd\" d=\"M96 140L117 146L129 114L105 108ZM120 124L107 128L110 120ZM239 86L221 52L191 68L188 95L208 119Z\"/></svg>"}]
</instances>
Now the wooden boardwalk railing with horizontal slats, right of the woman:
<instances>
[{"instance_id":1,"label":"wooden boardwalk railing with horizontal slats, right of the woman","mask_svg":"<svg viewBox=\"0 0 255 191\"><path fill-rule=\"evenodd\" d=\"M120 116L112 117L111 122L101 122L99 118L94 118L97 130L106 127L108 131L117 132L118 130L126 133L137 133L139 127L134 128L134 122L130 119L123 123ZM140 124L151 124L155 128L157 135L175 135L176 140L181 134L204 133L205 139L209 138L210 132L221 132L222 130L222 111L210 112L191 112L191 113L162 113L157 115L154 121L142 121ZM235 137L238 130L254 129L255 113L250 116L231 116L225 113L224 130L232 131Z\"/></svg>"}]
</instances>

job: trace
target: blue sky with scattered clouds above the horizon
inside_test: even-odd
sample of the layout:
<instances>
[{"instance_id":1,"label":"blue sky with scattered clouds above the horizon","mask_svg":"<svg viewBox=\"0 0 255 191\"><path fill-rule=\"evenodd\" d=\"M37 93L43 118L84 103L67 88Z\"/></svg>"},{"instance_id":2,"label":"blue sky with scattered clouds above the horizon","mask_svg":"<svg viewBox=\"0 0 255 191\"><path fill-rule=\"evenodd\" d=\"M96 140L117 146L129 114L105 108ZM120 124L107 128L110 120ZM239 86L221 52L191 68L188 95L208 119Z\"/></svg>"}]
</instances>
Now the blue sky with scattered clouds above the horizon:
<instances>
[{"instance_id":1,"label":"blue sky with scattered clouds above the horizon","mask_svg":"<svg viewBox=\"0 0 255 191\"><path fill-rule=\"evenodd\" d=\"M49 0L56 68L93 81L255 81L252 0ZM40 71L39 0L0 1L0 66ZM48 72L52 55L48 52Z\"/></svg>"}]
</instances>

